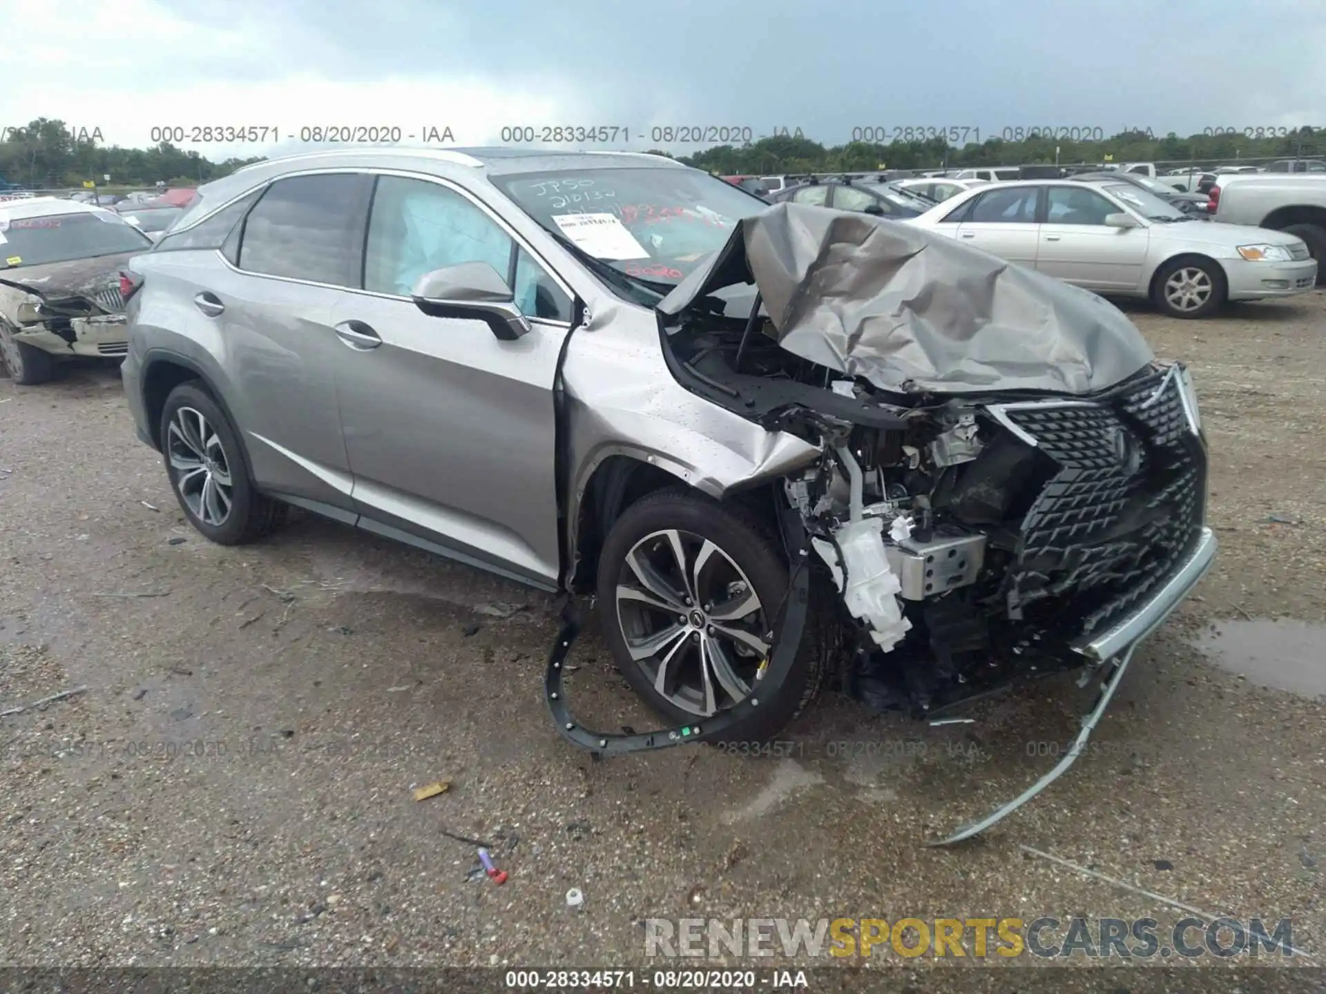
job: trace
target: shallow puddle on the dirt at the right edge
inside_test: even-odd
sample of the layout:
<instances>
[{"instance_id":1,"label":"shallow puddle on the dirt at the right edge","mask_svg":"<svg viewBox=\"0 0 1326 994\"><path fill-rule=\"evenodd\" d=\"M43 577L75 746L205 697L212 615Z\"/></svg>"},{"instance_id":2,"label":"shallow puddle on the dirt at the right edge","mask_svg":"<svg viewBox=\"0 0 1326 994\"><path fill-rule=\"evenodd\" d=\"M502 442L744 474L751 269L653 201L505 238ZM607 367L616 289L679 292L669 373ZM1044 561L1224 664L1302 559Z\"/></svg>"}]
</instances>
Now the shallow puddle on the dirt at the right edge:
<instances>
[{"instance_id":1,"label":"shallow puddle on the dirt at the right edge","mask_svg":"<svg viewBox=\"0 0 1326 994\"><path fill-rule=\"evenodd\" d=\"M1305 697L1326 697L1326 624L1237 619L1216 622L1193 644L1213 663L1252 683Z\"/></svg>"}]
</instances>

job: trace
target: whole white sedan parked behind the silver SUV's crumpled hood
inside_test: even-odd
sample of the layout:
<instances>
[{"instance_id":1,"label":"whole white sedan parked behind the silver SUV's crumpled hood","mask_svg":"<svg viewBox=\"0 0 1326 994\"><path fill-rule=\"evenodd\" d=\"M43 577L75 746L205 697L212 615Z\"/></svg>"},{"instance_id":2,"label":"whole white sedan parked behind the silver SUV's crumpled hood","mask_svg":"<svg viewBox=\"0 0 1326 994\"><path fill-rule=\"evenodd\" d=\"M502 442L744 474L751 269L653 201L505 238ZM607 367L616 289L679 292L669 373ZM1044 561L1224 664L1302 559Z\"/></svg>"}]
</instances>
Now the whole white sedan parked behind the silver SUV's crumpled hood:
<instances>
[{"instance_id":1,"label":"whole white sedan parked behind the silver SUV's crumpled hood","mask_svg":"<svg viewBox=\"0 0 1326 994\"><path fill-rule=\"evenodd\" d=\"M1115 180L983 184L904 223L1102 296L1151 300L1177 318L1317 285L1301 239L1197 220Z\"/></svg>"}]
</instances>

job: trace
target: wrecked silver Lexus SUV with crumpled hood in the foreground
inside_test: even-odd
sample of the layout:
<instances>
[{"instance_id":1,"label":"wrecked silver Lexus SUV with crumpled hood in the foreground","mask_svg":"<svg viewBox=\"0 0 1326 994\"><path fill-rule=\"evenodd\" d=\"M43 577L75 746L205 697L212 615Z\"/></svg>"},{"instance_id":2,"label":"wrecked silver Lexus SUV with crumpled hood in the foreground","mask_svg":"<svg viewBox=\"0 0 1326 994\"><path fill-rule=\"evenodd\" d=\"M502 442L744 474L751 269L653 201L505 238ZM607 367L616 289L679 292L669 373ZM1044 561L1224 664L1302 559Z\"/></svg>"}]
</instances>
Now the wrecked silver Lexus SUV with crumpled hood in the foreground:
<instances>
[{"instance_id":1,"label":"wrecked silver Lexus SUV with crumpled hood in the foreground","mask_svg":"<svg viewBox=\"0 0 1326 994\"><path fill-rule=\"evenodd\" d=\"M934 714L1126 659L1215 554L1187 370L1115 307L666 158L261 162L125 276L202 534L297 505L595 594L636 690L731 740L826 673Z\"/></svg>"}]
</instances>

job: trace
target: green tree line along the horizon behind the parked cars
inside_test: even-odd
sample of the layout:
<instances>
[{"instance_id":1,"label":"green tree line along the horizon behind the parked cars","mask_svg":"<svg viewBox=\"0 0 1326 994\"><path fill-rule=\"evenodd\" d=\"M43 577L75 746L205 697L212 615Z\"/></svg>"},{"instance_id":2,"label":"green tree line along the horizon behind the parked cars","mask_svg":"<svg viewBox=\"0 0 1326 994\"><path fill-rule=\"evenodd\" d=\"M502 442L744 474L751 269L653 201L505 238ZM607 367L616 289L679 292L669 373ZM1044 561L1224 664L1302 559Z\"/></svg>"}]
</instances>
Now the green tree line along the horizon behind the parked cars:
<instances>
[{"instance_id":1,"label":"green tree line along the horizon behind the parked cars","mask_svg":"<svg viewBox=\"0 0 1326 994\"><path fill-rule=\"evenodd\" d=\"M1213 166L1240 159L1276 159L1326 154L1326 129L1285 129L1284 134L1177 134L1120 131L1102 140L1030 137L987 138L957 146L945 138L847 142L825 146L794 134L778 134L743 146L720 144L691 155L664 152L688 166L720 175L785 172L863 172L878 168L920 170L1026 163L1195 162ZM37 118L0 134L0 180L34 190L82 186L194 186L224 176L264 156L212 162L168 142L151 148L105 144L101 131ZM660 151L660 150L654 150Z\"/></svg>"}]
</instances>

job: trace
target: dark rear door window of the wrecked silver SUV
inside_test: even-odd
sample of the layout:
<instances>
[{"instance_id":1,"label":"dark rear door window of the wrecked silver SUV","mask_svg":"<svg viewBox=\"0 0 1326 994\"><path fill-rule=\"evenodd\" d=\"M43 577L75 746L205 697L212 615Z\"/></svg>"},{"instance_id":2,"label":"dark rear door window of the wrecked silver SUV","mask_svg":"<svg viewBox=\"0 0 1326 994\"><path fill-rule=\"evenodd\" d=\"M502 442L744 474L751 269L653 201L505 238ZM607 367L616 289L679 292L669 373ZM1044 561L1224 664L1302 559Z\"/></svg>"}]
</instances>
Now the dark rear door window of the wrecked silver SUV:
<instances>
[{"instance_id":1,"label":"dark rear door window of the wrecked silver SUV","mask_svg":"<svg viewBox=\"0 0 1326 994\"><path fill-rule=\"evenodd\" d=\"M359 172L277 180L244 219L236 265L358 289L371 195L373 176Z\"/></svg>"}]
</instances>

